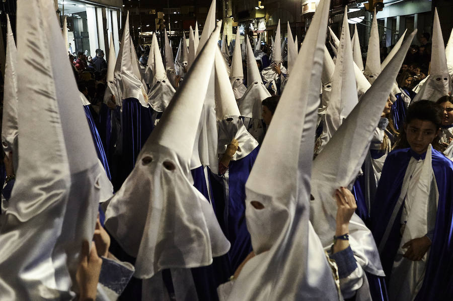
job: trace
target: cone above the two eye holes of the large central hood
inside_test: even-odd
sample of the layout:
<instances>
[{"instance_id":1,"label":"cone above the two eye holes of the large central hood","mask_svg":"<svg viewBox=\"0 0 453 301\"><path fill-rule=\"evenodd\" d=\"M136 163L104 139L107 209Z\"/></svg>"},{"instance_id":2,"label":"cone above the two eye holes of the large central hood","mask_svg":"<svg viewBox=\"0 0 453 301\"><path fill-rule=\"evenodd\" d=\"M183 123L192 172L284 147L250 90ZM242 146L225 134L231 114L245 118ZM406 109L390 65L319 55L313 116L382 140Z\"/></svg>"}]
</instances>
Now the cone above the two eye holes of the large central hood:
<instances>
[{"instance_id":1,"label":"cone above the two eye holes of the large central hood","mask_svg":"<svg viewBox=\"0 0 453 301\"><path fill-rule=\"evenodd\" d=\"M203 55L197 56L189 74L186 76L181 87L175 93L170 105L162 115L158 127L156 127L149 139L148 144L159 144L175 151L185 162L189 163L192 155L193 144L198 128L203 102L200 95L206 94L209 78L208 70L212 69L217 37L220 25L205 43ZM175 133L180 133L180 138L175 139Z\"/></svg>"}]
</instances>

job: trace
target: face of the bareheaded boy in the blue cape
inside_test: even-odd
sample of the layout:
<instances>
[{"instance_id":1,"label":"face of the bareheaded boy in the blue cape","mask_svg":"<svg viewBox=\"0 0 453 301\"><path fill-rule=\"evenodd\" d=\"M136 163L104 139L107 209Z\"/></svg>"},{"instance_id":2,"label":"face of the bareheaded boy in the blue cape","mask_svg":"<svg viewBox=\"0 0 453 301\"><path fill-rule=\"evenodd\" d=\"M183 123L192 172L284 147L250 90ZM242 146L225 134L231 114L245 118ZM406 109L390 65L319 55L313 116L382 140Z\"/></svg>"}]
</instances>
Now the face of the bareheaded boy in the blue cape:
<instances>
[{"instance_id":1,"label":"face of the bareheaded boy in the blue cape","mask_svg":"<svg viewBox=\"0 0 453 301\"><path fill-rule=\"evenodd\" d=\"M404 125L407 142L417 154L423 154L438 134L436 125L431 121L414 119Z\"/></svg>"}]
</instances>

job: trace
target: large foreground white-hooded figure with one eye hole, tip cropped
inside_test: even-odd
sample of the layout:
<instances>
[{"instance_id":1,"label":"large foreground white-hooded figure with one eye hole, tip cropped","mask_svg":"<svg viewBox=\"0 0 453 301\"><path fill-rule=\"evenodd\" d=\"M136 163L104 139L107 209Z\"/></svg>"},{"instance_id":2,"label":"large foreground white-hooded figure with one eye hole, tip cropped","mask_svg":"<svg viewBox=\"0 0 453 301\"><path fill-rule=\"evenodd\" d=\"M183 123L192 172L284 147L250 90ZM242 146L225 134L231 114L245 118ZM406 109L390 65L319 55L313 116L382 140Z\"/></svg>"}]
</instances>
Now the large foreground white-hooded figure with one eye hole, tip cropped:
<instances>
[{"instance_id":1,"label":"large foreground white-hooded figure with one eye hole, tip cropped","mask_svg":"<svg viewBox=\"0 0 453 301\"><path fill-rule=\"evenodd\" d=\"M321 1L247 180L246 220L255 257L228 300L338 300L310 223L310 177L329 1ZM302 80L301 80L302 79ZM282 133L281 129L286 129ZM285 145L276 148L276 145Z\"/></svg>"}]
</instances>

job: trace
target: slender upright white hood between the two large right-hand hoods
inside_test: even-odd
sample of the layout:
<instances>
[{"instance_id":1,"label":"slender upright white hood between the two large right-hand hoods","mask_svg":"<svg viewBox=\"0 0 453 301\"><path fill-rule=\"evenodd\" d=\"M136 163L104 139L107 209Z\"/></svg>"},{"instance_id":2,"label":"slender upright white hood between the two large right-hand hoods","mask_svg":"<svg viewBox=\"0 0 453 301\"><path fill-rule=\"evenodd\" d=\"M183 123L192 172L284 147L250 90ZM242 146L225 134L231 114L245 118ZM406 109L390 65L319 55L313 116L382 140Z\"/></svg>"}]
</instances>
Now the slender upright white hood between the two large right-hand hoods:
<instances>
[{"instance_id":1,"label":"slender upright white hood between the two large right-hand hoods","mask_svg":"<svg viewBox=\"0 0 453 301\"><path fill-rule=\"evenodd\" d=\"M357 105L357 86L354 76L354 60L349 34L347 7L343 18L343 29L338 46L337 62L332 80L332 91L327 103L323 133L317 141L315 153L319 153L335 131L340 127L355 105Z\"/></svg>"}]
</instances>

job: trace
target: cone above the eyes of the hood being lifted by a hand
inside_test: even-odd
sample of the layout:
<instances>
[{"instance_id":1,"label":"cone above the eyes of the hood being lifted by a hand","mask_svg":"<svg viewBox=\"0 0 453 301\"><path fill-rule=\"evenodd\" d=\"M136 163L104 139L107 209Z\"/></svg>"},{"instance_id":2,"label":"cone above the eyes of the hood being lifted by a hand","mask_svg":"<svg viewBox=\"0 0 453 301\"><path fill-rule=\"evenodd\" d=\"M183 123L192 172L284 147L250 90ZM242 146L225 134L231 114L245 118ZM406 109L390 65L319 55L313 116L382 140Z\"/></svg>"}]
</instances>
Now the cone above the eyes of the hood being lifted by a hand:
<instances>
[{"instance_id":1,"label":"cone above the eyes of the hood being lifted by a hand","mask_svg":"<svg viewBox=\"0 0 453 301\"><path fill-rule=\"evenodd\" d=\"M228 82L228 73L226 73L225 64L222 54L217 50L215 55L215 116L217 120L224 120L227 117L237 116L239 113L236 98L233 93L231 84Z\"/></svg>"}]
</instances>

